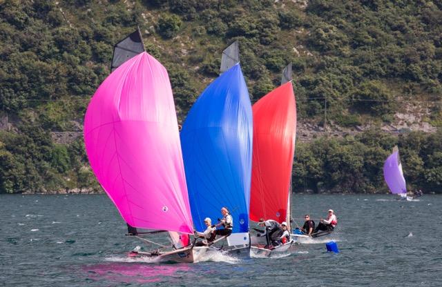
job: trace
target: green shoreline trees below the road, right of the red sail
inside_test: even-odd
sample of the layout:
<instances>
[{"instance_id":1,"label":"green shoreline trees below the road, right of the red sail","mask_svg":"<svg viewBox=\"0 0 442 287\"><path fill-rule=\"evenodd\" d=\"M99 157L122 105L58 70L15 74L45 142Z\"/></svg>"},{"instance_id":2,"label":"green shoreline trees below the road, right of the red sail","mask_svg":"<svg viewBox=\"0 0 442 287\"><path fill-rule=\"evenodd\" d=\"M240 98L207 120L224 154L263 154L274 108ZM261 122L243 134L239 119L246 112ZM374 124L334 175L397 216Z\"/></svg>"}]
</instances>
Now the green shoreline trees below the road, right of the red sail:
<instances>
[{"instance_id":1,"label":"green shoreline trees below the road, right of the red sail","mask_svg":"<svg viewBox=\"0 0 442 287\"><path fill-rule=\"evenodd\" d=\"M442 132L412 132L392 137L369 130L344 139L321 138L297 143L293 183L295 191L387 192L383 164L397 145L407 189L440 192Z\"/></svg>"}]
</instances>

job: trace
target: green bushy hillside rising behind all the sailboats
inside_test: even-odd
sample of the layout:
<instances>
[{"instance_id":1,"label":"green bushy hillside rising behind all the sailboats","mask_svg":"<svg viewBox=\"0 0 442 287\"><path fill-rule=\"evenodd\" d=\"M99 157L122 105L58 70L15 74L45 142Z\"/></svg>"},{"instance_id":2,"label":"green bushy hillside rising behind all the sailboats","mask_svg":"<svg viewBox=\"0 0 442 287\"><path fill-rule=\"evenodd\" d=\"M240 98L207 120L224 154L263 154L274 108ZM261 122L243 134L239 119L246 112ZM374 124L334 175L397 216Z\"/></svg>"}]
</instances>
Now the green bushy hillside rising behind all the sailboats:
<instances>
[{"instance_id":1,"label":"green bushy hillside rising behind all the sailboats","mask_svg":"<svg viewBox=\"0 0 442 287\"><path fill-rule=\"evenodd\" d=\"M275 88L292 62L298 118L319 123L326 99L328 119L348 127L390 121L404 108L394 100L441 101L441 9L428 0L310 0L305 8L272 0L0 1L0 116L13 124L0 133L0 192L98 188L81 140L59 146L49 132L81 130L87 103L110 72L113 44L136 26L169 71L179 121L218 75L222 48L238 39L253 100ZM427 121L442 126L440 107ZM379 147L363 141L369 135L300 143L296 186L381 188L379 162L394 139ZM405 175L438 191L437 136L419 136L432 157L414 137L399 139L404 164L412 161Z\"/></svg>"}]
</instances>

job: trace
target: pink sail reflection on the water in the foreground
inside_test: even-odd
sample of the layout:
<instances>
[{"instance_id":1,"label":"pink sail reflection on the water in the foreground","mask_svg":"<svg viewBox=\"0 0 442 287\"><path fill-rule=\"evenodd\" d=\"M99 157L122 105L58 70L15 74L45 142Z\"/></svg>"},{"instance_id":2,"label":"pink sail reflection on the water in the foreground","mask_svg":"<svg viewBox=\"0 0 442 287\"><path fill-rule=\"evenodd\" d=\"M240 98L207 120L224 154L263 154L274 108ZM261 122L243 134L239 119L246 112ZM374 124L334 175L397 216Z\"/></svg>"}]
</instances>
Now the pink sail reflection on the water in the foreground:
<instances>
[{"instance_id":1,"label":"pink sail reflection on the water in the foreground","mask_svg":"<svg viewBox=\"0 0 442 287\"><path fill-rule=\"evenodd\" d=\"M147 265L135 263L109 263L93 266L84 266L84 271L90 273L93 280L106 279L124 283L148 283L164 280L168 281L175 273L187 272L189 266L184 265Z\"/></svg>"}]
</instances>

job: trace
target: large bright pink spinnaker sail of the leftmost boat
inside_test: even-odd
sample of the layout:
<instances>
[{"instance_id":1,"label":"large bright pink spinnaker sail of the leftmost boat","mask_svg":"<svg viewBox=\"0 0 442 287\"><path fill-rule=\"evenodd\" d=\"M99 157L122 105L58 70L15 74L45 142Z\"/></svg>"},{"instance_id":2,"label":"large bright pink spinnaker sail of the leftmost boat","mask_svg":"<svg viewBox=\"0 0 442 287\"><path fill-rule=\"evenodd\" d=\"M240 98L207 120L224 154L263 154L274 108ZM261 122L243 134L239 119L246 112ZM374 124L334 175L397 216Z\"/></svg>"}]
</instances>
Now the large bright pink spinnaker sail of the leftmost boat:
<instances>
[{"instance_id":1,"label":"large bright pink spinnaker sail of the leftmost boat","mask_svg":"<svg viewBox=\"0 0 442 287\"><path fill-rule=\"evenodd\" d=\"M103 81L86 111L84 143L128 224L193 232L171 84L157 59L142 52Z\"/></svg>"}]
</instances>

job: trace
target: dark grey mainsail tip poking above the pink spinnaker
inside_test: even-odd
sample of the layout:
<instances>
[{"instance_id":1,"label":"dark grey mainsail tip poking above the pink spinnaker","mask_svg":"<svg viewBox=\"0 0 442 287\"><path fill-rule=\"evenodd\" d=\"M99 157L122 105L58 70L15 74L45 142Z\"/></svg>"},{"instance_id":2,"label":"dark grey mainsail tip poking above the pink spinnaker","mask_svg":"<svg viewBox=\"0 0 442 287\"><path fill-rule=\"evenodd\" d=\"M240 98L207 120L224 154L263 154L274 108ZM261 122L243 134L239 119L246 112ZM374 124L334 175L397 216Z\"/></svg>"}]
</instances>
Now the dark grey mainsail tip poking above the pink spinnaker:
<instances>
[{"instance_id":1,"label":"dark grey mainsail tip poking above the pink spinnaker","mask_svg":"<svg viewBox=\"0 0 442 287\"><path fill-rule=\"evenodd\" d=\"M111 72L141 52L146 52L140 27L113 46Z\"/></svg>"}]
</instances>

